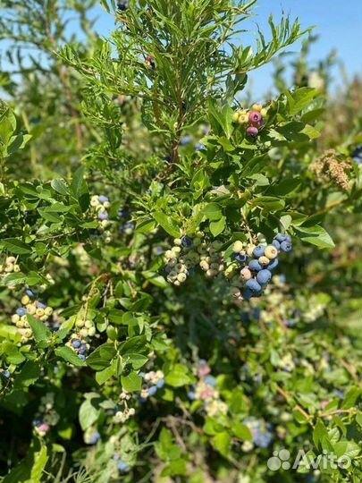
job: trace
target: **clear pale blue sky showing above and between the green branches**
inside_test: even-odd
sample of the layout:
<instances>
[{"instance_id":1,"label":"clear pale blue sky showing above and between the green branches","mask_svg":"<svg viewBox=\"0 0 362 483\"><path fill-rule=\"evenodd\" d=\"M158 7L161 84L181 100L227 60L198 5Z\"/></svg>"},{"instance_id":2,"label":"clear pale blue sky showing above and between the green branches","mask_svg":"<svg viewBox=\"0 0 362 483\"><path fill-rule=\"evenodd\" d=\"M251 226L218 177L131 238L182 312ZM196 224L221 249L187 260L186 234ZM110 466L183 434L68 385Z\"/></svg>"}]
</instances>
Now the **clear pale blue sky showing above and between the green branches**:
<instances>
[{"instance_id":1,"label":"clear pale blue sky showing above and between the green branches","mask_svg":"<svg viewBox=\"0 0 362 483\"><path fill-rule=\"evenodd\" d=\"M170 0L172 1L172 0ZM340 64L333 68L335 86L341 85L341 64L349 77L362 73L362 0L258 0L254 16L247 21L251 34L257 36L257 24L263 32L269 32L268 17L281 18L282 13L291 19L299 18L303 29L315 26L313 32L318 41L313 45L310 62L313 66L324 59L333 49L338 51ZM114 17L98 12L97 30L105 36L114 29ZM289 47L289 52L298 53L300 42ZM268 64L249 76L253 92L271 89L274 68Z\"/></svg>"}]
</instances>

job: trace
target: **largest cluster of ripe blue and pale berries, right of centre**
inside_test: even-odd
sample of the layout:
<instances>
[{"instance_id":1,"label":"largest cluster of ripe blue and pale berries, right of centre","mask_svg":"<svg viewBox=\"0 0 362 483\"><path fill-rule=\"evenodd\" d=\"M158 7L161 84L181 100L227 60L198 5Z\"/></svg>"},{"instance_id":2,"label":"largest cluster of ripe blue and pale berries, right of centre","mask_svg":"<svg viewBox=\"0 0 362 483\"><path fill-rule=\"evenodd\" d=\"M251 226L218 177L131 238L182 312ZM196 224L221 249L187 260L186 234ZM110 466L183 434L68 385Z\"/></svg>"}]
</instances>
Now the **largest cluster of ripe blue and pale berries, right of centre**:
<instances>
[{"instance_id":1,"label":"largest cluster of ripe blue and pale berries, right of centre","mask_svg":"<svg viewBox=\"0 0 362 483\"><path fill-rule=\"evenodd\" d=\"M242 292L244 300L259 297L263 293L266 285L272 280L274 268L279 265L279 253L288 253L291 250L290 235L282 233L275 236L271 245L259 244L255 248L251 246L247 252L242 250L241 242L234 243L234 252L237 251L234 259L244 264L240 271L241 279L245 283ZM251 258L249 261L248 256Z\"/></svg>"}]
</instances>

